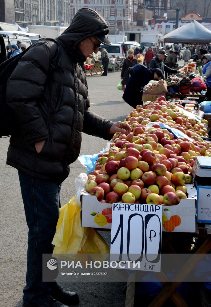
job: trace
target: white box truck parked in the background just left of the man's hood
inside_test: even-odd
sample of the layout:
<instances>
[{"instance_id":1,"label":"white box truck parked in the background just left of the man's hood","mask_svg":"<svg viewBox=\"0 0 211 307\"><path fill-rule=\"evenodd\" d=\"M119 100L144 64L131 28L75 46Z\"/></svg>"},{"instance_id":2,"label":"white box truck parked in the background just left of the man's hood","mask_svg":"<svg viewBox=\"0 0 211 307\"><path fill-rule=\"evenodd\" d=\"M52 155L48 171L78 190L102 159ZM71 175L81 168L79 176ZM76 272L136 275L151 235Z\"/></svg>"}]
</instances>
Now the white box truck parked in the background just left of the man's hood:
<instances>
[{"instance_id":1,"label":"white box truck parked in the background just left of the man's hood","mask_svg":"<svg viewBox=\"0 0 211 307\"><path fill-rule=\"evenodd\" d=\"M67 28L50 26L50 25L29 25L28 31L33 33L38 33L42 37L56 38L62 34Z\"/></svg>"}]
</instances>

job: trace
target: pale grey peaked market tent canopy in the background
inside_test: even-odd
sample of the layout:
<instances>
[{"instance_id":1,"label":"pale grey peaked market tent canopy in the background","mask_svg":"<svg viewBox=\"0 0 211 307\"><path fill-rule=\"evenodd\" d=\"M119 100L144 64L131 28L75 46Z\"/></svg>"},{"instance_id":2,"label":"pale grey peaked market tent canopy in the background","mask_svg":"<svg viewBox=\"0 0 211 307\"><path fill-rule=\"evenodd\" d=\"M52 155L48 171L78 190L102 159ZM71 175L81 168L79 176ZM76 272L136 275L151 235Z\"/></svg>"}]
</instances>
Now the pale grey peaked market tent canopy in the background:
<instances>
[{"instance_id":1,"label":"pale grey peaked market tent canopy in the background","mask_svg":"<svg viewBox=\"0 0 211 307\"><path fill-rule=\"evenodd\" d=\"M169 32L159 39L163 43L180 43L180 44L209 44L211 43L211 31L206 29L198 21L181 26Z\"/></svg>"}]
</instances>

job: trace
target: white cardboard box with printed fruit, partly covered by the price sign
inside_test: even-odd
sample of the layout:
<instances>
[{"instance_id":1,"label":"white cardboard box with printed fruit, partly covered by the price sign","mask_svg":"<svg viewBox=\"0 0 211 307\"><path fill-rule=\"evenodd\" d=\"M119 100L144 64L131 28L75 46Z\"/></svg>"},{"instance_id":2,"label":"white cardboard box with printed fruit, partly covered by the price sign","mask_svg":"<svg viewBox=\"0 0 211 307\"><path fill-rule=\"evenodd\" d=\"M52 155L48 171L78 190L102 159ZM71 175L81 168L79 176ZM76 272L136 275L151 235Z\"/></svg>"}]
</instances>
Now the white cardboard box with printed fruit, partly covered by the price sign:
<instances>
[{"instance_id":1,"label":"white cardboard box with printed fruit, partly covered by the price sign","mask_svg":"<svg viewBox=\"0 0 211 307\"><path fill-rule=\"evenodd\" d=\"M188 189L187 199L182 199L177 206L163 206L162 214L168 220L173 215L178 215L181 219L181 224L175 227L174 232L196 232L197 191L194 185L186 185L186 187ZM81 226L100 230L111 229L111 223L101 224L100 216L102 210L106 208L112 208L112 204L101 203L96 196L90 196L83 190L81 193ZM105 221L105 219L103 220ZM109 222L111 222L110 219ZM166 231L163 226L162 231Z\"/></svg>"}]
</instances>

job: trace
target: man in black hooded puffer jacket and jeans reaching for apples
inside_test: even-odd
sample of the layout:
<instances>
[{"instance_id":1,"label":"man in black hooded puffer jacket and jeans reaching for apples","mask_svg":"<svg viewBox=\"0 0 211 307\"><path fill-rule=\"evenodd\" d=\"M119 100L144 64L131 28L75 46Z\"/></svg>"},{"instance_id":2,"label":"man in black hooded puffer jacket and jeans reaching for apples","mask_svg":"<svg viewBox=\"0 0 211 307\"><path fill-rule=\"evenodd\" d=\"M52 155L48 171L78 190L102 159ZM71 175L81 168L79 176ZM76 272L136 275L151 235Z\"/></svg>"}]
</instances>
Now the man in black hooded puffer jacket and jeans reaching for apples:
<instances>
[{"instance_id":1,"label":"man in black hooded puffer jacket and jeans reaching for apples","mask_svg":"<svg viewBox=\"0 0 211 307\"><path fill-rule=\"evenodd\" d=\"M42 254L53 251L61 184L80 153L82 132L110 140L117 131L131 131L127 123L110 122L90 110L86 77L77 64L97 53L101 43L110 45L108 33L97 12L82 8L56 39L59 67L50 69L57 44L41 40L22 56L7 83L6 100L16 119L7 164L18 169L29 228L23 307L78 303L77 293L42 282Z\"/></svg>"}]
</instances>

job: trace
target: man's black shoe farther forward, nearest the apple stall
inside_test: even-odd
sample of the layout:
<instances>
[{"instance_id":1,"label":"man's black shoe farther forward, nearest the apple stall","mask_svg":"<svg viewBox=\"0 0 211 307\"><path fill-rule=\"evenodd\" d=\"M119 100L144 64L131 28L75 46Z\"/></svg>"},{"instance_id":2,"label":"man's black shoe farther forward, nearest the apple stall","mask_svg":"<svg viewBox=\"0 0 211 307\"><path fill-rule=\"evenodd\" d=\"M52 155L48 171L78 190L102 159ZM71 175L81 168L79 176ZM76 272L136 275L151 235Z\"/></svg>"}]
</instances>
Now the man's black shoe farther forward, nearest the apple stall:
<instances>
[{"instance_id":1,"label":"man's black shoe farther forward, nearest the apple stall","mask_svg":"<svg viewBox=\"0 0 211 307\"><path fill-rule=\"evenodd\" d=\"M56 285L52 288L52 296L65 305L76 305L79 303L79 296L76 292L63 290L60 286ZM57 306L55 306L57 307ZM63 307L63 306L62 306Z\"/></svg>"}]
</instances>

